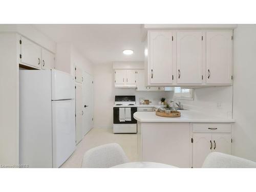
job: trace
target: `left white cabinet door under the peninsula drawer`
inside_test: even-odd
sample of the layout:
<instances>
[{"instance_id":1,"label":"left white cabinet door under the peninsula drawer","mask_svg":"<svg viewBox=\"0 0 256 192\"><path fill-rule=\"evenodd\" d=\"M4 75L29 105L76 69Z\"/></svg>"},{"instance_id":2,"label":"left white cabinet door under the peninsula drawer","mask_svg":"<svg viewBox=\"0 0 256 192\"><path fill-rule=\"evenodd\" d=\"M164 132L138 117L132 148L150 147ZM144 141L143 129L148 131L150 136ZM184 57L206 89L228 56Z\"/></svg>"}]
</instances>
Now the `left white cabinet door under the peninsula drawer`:
<instances>
[{"instance_id":1,"label":"left white cabinet door under the peninsula drawer","mask_svg":"<svg viewBox=\"0 0 256 192\"><path fill-rule=\"evenodd\" d=\"M211 152L211 134L193 134L193 167L202 166L206 156Z\"/></svg>"}]
</instances>

